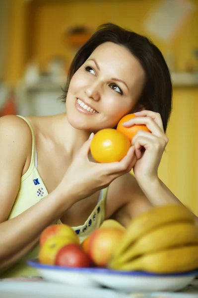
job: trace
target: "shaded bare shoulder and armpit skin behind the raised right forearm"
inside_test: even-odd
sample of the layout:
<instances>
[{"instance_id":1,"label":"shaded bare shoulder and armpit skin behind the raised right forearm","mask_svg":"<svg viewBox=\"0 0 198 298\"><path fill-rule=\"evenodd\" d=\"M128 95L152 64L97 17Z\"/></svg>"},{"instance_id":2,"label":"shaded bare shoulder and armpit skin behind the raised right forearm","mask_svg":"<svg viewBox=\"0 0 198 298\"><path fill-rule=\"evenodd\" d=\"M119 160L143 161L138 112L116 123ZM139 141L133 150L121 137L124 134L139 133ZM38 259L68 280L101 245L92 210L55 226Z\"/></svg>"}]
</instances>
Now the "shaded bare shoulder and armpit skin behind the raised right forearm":
<instances>
[{"instance_id":1,"label":"shaded bare shoulder and armpit skin behind the raised right forearm","mask_svg":"<svg viewBox=\"0 0 198 298\"><path fill-rule=\"evenodd\" d=\"M110 184L107 194L106 218L112 217L121 224L127 225L127 222L133 217L151 207L151 203L132 174L125 174Z\"/></svg>"}]
</instances>

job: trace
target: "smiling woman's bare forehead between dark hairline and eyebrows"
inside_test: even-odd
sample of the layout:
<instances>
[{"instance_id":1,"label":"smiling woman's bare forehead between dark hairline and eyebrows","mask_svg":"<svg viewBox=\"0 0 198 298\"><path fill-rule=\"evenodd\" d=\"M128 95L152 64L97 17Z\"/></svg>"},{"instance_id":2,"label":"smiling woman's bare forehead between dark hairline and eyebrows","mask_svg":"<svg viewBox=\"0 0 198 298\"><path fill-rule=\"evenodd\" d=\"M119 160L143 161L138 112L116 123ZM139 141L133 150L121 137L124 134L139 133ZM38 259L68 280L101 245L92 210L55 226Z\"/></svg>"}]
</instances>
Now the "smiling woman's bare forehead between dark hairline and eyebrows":
<instances>
[{"instance_id":1,"label":"smiling woman's bare forehead between dark hairline and eyebrows","mask_svg":"<svg viewBox=\"0 0 198 298\"><path fill-rule=\"evenodd\" d=\"M124 78L129 84L133 85L136 80L144 78L144 71L139 61L124 46L105 42L92 52L88 60L93 58L101 70L121 79Z\"/></svg>"}]
</instances>

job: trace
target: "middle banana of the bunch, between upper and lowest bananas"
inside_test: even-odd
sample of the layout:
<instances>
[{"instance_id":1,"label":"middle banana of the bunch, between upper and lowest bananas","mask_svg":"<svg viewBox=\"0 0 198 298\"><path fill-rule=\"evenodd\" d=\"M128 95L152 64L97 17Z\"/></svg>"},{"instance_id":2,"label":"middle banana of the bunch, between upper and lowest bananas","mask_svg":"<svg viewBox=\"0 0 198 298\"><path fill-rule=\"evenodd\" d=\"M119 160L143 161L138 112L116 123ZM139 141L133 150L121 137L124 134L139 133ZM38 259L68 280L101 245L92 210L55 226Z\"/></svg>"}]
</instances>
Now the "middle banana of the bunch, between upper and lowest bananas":
<instances>
[{"instance_id":1,"label":"middle banana of the bunch, between upper and lowest bananas","mask_svg":"<svg viewBox=\"0 0 198 298\"><path fill-rule=\"evenodd\" d=\"M142 254L157 252L171 247L198 245L198 226L188 222L176 222L158 226L138 238L120 257L110 263L115 267ZM112 268L113 269L113 268Z\"/></svg>"}]
</instances>

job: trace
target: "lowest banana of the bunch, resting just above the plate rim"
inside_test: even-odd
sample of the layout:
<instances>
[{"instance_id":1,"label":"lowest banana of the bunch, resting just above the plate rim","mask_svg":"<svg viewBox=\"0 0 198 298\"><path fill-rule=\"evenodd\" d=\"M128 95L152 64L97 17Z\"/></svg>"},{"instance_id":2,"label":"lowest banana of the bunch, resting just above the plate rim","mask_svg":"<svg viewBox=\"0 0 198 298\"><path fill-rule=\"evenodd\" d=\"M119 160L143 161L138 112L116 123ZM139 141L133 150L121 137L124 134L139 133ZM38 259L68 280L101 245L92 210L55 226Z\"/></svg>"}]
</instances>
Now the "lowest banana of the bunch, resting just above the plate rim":
<instances>
[{"instance_id":1,"label":"lowest banana of the bunch, resting just above the plate rim","mask_svg":"<svg viewBox=\"0 0 198 298\"><path fill-rule=\"evenodd\" d=\"M198 245L192 245L146 254L116 269L166 274L187 272L197 268Z\"/></svg>"}]
</instances>

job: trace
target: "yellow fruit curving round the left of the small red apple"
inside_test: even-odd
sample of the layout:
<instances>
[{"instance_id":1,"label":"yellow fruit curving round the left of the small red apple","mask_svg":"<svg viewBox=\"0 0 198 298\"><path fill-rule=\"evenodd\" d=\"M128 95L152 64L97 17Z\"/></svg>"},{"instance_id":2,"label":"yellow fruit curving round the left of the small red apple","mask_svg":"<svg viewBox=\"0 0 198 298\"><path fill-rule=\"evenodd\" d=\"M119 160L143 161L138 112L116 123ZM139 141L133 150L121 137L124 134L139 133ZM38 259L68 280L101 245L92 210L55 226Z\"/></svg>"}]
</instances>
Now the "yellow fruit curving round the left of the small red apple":
<instances>
[{"instance_id":1,"label":"yellow fruit curving round the left of the small red apple","mask_svg":"<svg viewBox=\"0 0 198 298\"><path fill-rule=\"evenodd\" d=\"M65 236L54 236L46 240L39 251L39 262L54 265L58 251L65 245L75 243L73 238Z\"/></svg>"}]
</instances>

